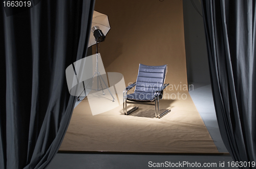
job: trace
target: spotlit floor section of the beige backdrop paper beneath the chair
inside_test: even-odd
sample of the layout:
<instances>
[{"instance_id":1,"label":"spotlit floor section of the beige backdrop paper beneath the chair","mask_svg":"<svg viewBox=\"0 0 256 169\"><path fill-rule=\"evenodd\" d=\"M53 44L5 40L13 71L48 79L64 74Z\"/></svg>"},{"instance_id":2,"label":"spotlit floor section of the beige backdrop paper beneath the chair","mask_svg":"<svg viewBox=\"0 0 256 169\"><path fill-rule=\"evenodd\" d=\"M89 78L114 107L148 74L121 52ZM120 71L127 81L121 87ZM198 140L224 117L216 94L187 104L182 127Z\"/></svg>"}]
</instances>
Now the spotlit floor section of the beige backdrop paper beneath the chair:
<instances>
[{"instance_id":1,"label":"spotlit floor section of the beige backdrop paper beneath the chair","mask_svg":"<svg viewBox=\"0 0 256 169\"><path fill-rule=\"evenodd\" d=\"M128 109L139 106L129 116L123 115L121 105L92 116L90 107L102 105L81 101L59 151L218 154L188 92L182 93L186 99L171 99L172 94L166 91L160 100L161 112L172 109L161 119L155 118L153 106L137 104L128 105Z\"/></svg>"}]
</instances>

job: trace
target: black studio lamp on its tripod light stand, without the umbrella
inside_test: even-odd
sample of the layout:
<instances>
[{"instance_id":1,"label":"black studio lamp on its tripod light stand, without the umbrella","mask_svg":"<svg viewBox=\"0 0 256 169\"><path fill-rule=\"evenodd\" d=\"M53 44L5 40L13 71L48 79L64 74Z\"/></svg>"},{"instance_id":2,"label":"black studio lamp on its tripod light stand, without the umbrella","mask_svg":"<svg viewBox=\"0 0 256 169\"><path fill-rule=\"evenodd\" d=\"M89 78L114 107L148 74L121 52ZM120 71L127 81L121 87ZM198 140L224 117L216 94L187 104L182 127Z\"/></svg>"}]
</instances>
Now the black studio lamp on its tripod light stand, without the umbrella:
<instances>
[{"instance_id":1,"label":"black studio lamp on its tripod light stand, without the umbrella","mask_svg":"<svg viewBox=\"0 0 256 169\"><path fill-rule=\"evenodd\" d=\"M103 77L101 76L100 72L99 72L99 69L98 69L98 42L103 42L105 40L105 36L104 34L102 33L102 31L99 29L99 26L94 26L92 28L92 32L93 32L93 35L95 37L95 41L96 41L96 70L94 72L94 75L93 77L90 79L90 81L95 77L97 76L97 89L92 89L92 90L96 90L96 91L101 91L102 90L102 95L105 95L104 91L103 91L103 87L102 87L102 83L101 83L101 80L103 81L106 89L108 89L108 91L110 92L112 98L113 98L113 102L115 101L115 98L114 96L112 95L108 85L106 85L106 82L104 81ZM83 83L83 91L84 93L86 94L86 88L88 86L88 84L90 83L90 81L87 83L86 86L84 86L84 83ZM100 83L100 86L99 86L99 83ZM101 89L100 89L101 87ZM81 92L82 94L83 92ZM77 100L80 101L80 96L81 94L77 97Z\"/></svg>"}]
</instances>

